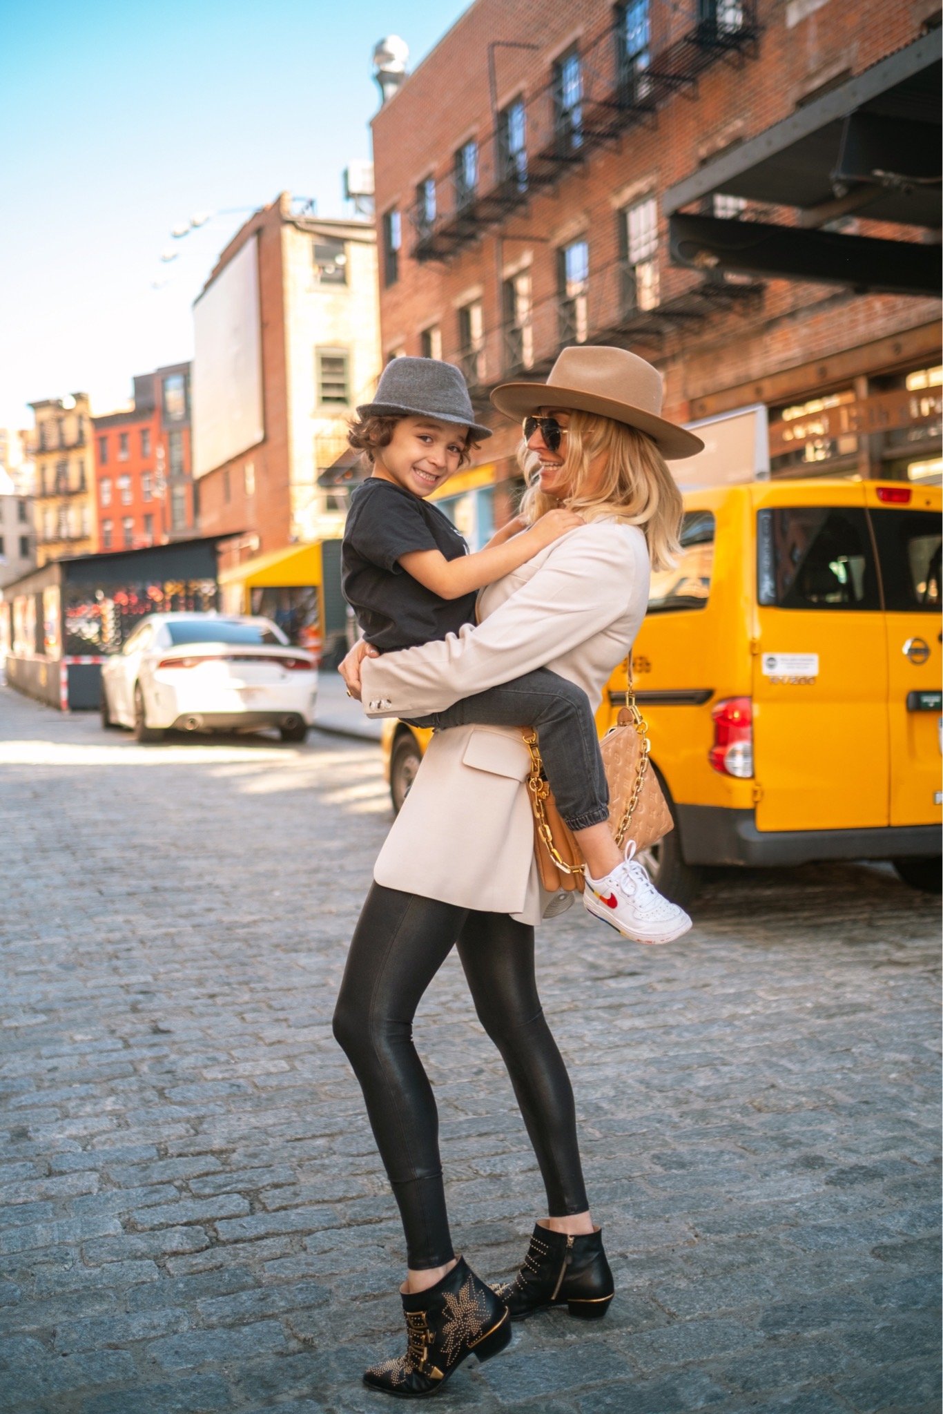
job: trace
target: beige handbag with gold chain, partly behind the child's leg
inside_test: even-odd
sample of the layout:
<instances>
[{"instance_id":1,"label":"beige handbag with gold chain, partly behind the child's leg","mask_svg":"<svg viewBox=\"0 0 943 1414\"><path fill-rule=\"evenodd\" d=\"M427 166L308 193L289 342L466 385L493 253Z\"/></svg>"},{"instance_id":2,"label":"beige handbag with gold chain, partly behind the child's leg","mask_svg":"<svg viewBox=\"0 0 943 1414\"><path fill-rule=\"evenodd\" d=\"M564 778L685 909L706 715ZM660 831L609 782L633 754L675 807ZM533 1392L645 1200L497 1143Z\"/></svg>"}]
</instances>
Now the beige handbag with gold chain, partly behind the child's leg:
<instances>
[{"instance_id":1,"label":"beige handbag with gold chain, partly behind the child's leg","mask_svg":"<svg viewBox=\"0 0 943 1414\"><path fill-rule=\"evenodd\" d=\"M609 826L615 843L622 848L632 840L636 851L640 851L663 839L674 827L674 822L657 776L649 771L652 744L648 723L635 699L631 658L626 659L626 680L625 707L619 710L616 725L599 742L599 751L609 783ZM527 789L534 814L534 853L540 882L550 892L582 891L582 857L544 779L537 732L529 727L523 738L530 751Z\"/></svg>"}]
</instances>

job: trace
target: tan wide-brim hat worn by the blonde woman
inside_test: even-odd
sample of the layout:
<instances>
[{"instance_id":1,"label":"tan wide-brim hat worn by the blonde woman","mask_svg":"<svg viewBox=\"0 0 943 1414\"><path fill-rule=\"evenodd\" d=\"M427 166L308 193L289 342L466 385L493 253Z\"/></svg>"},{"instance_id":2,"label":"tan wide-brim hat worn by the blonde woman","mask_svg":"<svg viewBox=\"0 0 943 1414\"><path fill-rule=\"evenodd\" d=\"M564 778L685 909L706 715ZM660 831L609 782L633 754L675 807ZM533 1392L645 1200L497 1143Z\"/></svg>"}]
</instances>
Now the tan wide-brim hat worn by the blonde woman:
<instances>
[{"instance_id":1,"label":"tan wide-brim hat worn by the blonde woman","mask_svg":"<svg viewBox=\"0 0 943 1414\"><path fill-rule=\"evenodd\" d=\"M500 413L526 417L539 407L599 413L648 433L667 461L704 450L704 443L662 417L662 375L638 354L595 344L566 348L546 383L502 383L491 395Z\"/></svg>"}]
</instances>

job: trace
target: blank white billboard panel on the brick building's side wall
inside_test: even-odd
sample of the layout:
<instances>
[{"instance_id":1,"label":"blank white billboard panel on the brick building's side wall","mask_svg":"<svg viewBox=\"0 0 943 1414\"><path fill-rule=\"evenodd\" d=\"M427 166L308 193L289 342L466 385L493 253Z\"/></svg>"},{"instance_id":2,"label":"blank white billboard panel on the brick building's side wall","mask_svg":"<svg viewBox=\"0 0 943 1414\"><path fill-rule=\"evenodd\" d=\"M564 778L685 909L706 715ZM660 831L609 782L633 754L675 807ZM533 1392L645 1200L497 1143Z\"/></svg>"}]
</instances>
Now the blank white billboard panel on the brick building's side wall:
<instances>
[{"instance_id":1,"label":"blank white billboard panel on the brick building's side wall","mask_svg":"<svg viewBox=\"0 0 943 1414\"><path fill-rule=\"evenodd\" d=\"M259 236L194 304L194 477L260 443Z\"/></svg>"}]
</instances>

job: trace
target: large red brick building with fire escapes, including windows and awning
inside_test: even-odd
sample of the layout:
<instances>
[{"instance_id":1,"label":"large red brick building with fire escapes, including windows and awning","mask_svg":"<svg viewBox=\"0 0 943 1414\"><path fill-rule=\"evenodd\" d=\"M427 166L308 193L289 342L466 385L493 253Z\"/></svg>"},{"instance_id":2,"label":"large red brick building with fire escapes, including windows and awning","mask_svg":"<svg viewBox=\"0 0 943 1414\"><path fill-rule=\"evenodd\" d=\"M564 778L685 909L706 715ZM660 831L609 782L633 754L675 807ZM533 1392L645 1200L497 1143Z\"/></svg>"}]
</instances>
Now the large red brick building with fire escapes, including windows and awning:
<instances>
[{"instance_id":1,"label":"large red brick building with fire escapes, including windows and awning","mask_svg":"<svg viewBox=\"0 0 943 1414\"><path fill-rule=\"evenodd\" d=\"M385 358L459 363L489 416L619 344L670 417L766 404L773 474L937 475L937 20L476 0L373 119ZM495 427L445 498L479 540L516 477Z\"/></svg>"}]
</instances>

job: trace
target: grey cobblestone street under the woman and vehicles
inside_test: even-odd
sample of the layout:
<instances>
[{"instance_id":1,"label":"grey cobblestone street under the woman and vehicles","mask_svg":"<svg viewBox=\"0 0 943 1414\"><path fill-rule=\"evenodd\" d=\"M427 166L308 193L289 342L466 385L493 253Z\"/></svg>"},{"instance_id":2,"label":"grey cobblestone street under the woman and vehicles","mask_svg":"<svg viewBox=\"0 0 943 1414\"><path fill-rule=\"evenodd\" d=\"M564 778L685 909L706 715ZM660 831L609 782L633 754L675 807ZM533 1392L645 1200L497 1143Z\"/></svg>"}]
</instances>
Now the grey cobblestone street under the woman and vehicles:
<instances>
[{"instance_id":1,"label":"grey cobblestone street under the woman and vehicles","mask_svg":"<svg viewBox=\"0 0 943 1414\"><path fill-rule=\"evenodd\" d=\"M402 1232L329 1025L379 748L141 747L0 689L0 1411L389 1408ZM939 901L823 865L693 913L660 950L541 930L616 1299L443 1408L939 1408ZM417 1039L457 1244L506 1275L541 1185L455 959Z\"/></svg>"}]
</instances>

